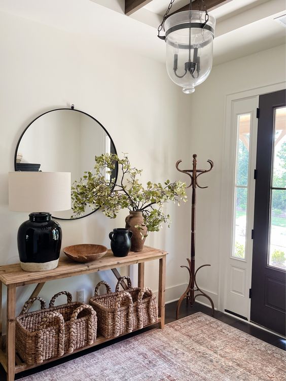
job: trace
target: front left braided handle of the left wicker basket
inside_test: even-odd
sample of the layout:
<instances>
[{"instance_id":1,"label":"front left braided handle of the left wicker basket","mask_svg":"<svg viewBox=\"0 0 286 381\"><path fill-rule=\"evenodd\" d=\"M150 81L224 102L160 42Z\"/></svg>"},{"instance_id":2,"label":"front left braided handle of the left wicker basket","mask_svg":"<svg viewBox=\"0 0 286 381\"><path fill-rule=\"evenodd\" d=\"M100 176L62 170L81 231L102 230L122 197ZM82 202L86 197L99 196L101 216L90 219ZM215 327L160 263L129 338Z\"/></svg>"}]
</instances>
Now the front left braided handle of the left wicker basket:
<instances>
[{"instance_id":1,"label":"front left braided handle of the left wicker basket","mask_svg":"<svg viewBox=\"0 0 286 381\"><path fill-rule=\"evenodd\" d=\"M56 318L59 324L59 332L58 332L58 356L62 356L64 354L64 319L63 316L58 312L49 312L42 319L41 325L38 331L38 343L37 343L37 364L41 364L43 362L43 347L44 347L44 333L43 330L46 328L48 322L51 319Z\"/></svg>"}]
</instances>

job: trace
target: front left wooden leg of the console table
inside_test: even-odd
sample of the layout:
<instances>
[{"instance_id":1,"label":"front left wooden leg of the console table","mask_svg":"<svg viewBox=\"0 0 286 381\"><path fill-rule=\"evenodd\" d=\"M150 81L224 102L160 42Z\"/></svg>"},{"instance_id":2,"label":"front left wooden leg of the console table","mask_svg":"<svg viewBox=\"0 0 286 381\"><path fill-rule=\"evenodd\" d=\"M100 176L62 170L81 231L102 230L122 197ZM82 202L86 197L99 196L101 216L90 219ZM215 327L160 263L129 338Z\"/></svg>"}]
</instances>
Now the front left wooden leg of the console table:
<instances>
[{"instance_id":1,"label":"front left wooden leg of the console table","mask_svg":"<svg viewBox=\"0 0 286 381\"><path fill-rule=\"evenodd\" d=\"M7 289L7 381L15 377L15 309L16 285L12 284Z\"/></svg>"}]
</instances>

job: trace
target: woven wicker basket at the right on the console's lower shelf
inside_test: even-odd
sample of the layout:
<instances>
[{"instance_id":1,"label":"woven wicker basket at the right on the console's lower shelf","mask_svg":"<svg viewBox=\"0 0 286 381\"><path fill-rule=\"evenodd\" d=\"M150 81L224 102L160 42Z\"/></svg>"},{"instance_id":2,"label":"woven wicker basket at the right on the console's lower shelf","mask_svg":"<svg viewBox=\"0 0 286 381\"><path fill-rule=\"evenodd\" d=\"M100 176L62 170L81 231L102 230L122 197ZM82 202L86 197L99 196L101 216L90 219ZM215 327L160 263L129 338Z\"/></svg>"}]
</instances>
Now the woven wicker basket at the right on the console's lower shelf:
<instances>
[{"instance_id":1,"label":"woven wicker basket at the right on the console's lower shelf","mask_svg":"<svg viewBox=\"0 0 286 381\"><path fill-rule=\"evenodd\" d=\"M119 291L119 285L124 279L127 279L128 289ZM106 287L106 294L98 295L101 285ZM99 282L89 303L96 310L98 331L104 337L116 337L132 332L158 320L156 296L150 288L132 288L129 276L119 279L115 292L111 292L108 283Z\"/></svg>"}]
</instances>

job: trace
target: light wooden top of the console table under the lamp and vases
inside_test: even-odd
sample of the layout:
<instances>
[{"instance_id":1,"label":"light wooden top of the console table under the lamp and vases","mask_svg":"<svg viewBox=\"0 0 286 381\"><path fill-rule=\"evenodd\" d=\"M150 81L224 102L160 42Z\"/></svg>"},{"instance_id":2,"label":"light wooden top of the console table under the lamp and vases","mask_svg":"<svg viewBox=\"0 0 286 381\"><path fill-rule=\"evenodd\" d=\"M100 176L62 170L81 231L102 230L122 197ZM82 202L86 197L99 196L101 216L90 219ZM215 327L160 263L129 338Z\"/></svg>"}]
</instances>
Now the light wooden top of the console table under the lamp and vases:
<instances>
[{"instance_id":1,"label":"light wooden top of the console table under the lamp and vases","mask_svg":"<svg viewBox=\"0 0 286 381\"><path fill-rule=\"evenodd\" d=\"M129 266L140 262L160 259L167 252L145 246L140 252L129 252L126 257L115 257L109 250L104 257L89 263L75 262L67 257L61 257L58 267L49 271L27 272L21 269L20 263L0 266L0 282L4 285L24 286L42 283L69 276L88 274L96 271L109 270L116 267Z\"/></svg>"}]
</instances>

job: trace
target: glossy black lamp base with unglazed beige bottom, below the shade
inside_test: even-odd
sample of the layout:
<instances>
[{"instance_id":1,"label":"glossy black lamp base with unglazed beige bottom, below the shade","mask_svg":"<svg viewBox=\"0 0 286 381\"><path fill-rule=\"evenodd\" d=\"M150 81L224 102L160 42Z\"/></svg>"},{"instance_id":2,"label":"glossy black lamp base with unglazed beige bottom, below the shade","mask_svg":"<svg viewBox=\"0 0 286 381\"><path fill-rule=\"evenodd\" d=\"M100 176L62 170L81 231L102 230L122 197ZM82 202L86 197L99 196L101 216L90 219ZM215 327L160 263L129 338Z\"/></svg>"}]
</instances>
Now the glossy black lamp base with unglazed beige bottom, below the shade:
<instances>
[{"instance_id":1,"label":"glossy black lamp base with unglazed beige bottom, below the shade","mask_svg":"<svg viewBox=\"0 0 286 381\"><path fill-rule=\"evenodd\" d=\"M25 271L56 268L61 248L61 227L50 213L31 213L18 230L20 264Z\"/></svg>"}]
</instances>

